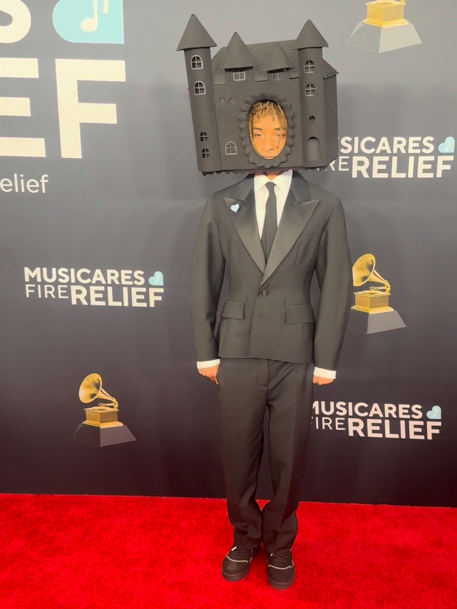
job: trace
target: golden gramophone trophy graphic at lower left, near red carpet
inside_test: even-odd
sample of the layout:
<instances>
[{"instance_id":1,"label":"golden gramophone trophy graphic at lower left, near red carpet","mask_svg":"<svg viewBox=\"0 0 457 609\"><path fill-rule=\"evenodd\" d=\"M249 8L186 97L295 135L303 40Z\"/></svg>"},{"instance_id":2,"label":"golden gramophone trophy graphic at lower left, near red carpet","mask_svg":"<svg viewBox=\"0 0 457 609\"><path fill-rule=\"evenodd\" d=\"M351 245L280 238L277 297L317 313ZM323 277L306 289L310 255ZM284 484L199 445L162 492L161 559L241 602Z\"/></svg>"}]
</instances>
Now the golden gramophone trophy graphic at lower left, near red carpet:
<instances>
[{"instance_id":1,"label":"golden gramophone trophy graphic at lower left, near red carpet","mask_svg":"<svg viewBox=\"0 0 457 609\"><path fill-rule=\"evenodd\" d=\"M100 375L86 376L79 387L79 399L83 404L90 404L94 400L105 401L84 409L86 420L77 427L73 435L74 440L96 446L109 446L133 442L136 439L129 428L118 421L119 404L102 389Z\"/></svg>"}]
</instances>

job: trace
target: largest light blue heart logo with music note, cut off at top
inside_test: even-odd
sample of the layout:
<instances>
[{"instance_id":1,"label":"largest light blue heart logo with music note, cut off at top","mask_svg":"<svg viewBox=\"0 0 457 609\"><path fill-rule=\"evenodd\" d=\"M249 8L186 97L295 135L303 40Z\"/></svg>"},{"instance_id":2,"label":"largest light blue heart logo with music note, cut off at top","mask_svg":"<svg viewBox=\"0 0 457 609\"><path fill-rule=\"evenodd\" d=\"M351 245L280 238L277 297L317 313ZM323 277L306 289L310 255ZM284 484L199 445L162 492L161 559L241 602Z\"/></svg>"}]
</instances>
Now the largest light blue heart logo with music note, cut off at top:
<instances>
[{"instance_id":1,"label":"largest light blue heart logo with music note, cut off at top","mask_svg":"<svg viewBox=\"0 0 457 609\"><path fill-rule=\"evenodd\" d=\"M60 0L52 23L68 42L124 44L122 0Z\"/></svg>"}]
</instances>

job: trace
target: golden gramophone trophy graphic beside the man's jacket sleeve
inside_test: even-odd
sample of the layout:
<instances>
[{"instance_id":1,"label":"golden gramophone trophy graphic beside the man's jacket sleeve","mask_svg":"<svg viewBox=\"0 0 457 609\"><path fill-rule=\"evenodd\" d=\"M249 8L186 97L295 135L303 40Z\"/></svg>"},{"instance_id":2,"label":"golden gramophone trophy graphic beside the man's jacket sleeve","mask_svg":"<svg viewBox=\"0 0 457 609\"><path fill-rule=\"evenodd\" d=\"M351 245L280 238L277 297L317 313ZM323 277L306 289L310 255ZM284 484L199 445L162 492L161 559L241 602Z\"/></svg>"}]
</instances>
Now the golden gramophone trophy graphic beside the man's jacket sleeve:
<instances>
[{"instance_id":1,"label":"golden gramophone trophy graphic beside the man's jacket sleeve","mask_svg":"<svg viewBox=\"0 0 457 609\"><path fill-rule=\"evenodd\" d=\"M350 311L348 328L363 334L405 328L398 312L389 306L391 284L375 270L375 265L375 257L372 254L364 254L352 267L354 287L361 287L369 282L383 284L383 287L372 286L367 290L354 292L355 305Z\"/></svg>"}]
</instances>

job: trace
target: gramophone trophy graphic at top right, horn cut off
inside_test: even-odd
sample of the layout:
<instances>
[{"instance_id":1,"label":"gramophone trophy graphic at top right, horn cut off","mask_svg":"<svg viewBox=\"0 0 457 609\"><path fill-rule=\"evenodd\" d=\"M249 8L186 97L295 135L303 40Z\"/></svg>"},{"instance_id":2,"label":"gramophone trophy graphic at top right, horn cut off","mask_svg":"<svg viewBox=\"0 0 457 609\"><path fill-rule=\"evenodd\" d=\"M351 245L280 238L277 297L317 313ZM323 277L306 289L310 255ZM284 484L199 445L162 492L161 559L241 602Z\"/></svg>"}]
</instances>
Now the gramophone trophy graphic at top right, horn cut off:
<instances>
[{"instance_id":1,"label":"gramophone trophy graphic at top right, horn cut off","mask_svg":"<svg viewBox=\"0 0 457 609\"><path fill-rule=\"evenodd\" d=\"M415 27L405 19L405 6L405 0L367 2L366 19L357 24L349 44L375 53L420 44L422 40Z\"/></svg>"}]
</instances>

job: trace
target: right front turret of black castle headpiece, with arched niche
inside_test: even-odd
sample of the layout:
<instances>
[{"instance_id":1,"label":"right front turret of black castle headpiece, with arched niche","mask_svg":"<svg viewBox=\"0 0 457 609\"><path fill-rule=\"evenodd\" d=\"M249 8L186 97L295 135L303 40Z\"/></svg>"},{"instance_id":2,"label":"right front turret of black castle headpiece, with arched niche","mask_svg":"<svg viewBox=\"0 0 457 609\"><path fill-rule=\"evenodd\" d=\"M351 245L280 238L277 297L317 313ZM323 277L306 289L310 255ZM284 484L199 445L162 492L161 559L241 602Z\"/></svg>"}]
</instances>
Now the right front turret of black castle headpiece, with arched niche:
<instances>
[{"instance_id":1,"label":"right front turret of black castle headpiece, with arched niche","mask_svg":"<svg viewBox=\"0 0 457 609\"><path fill-rule=\"evenodd\" d=\"M328 46L327 42L308 19L294 45L299 52L304 167L324 167L328 164L322 58L324 46Z\"/></svg>"}]
</instances>

